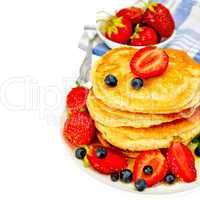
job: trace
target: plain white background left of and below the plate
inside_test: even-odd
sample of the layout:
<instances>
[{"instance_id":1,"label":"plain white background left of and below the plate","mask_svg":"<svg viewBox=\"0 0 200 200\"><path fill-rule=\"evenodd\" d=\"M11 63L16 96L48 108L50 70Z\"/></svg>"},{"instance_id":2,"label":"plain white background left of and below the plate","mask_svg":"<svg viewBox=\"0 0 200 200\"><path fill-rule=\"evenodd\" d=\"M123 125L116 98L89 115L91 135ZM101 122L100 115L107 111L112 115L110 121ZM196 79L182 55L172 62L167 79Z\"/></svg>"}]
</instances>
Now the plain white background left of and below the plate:
<instances>
[{"instance_id":1,"label":"plain white background left of and below the plate","mask_svg":"<svg viewBox=\"0 0 200 200\"><path fill-rule=\"evenodd\" d=\"M66 90L84 57L77 47L83 25L124 2L131 1L0 1L0 199L144 198L88 176L60 135Z\"/></svg>"}]
</instances>

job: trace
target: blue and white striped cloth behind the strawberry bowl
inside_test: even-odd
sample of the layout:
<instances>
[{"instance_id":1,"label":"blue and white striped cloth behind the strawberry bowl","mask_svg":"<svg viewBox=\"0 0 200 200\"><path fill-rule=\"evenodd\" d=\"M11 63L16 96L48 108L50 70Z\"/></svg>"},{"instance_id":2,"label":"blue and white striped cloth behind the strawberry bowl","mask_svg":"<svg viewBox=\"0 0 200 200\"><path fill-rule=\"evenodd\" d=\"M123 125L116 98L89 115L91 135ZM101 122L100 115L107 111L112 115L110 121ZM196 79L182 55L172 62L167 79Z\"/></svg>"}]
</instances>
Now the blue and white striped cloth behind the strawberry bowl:
<instances>
[{"instance_id":1,"label":"blue and white striped cloth behind the strawberry bowl","mask_svg":"<svg viewBox=\"0 0 200 200\"><path fill-rule=\"evenodd\" d=\"M136 1L137 2L137 1ZM182 49L200 63L200 0L160 0L172 12L176 22L176 35L166 48ZM84 33L79 47L87 49L88 37ZM93 54L101 56L109 48L97 38Z\"/></svg>"}]
</instances>

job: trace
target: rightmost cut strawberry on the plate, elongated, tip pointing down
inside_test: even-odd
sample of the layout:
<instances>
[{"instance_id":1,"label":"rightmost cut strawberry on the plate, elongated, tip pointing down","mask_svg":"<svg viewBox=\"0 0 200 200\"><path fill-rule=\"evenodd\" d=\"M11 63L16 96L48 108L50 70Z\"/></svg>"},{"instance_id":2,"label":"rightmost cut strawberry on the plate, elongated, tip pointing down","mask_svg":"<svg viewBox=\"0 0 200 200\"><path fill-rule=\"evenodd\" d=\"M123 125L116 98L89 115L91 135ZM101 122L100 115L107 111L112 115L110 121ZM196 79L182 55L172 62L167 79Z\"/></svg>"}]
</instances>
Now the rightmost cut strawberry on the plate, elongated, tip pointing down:
<instances>
[{"instance_id":1,"label":"rightmost cut strawberry on the plate, elongated, tip pointing down","mask_svg":"<svg viewBox=\"0 0 200 200\"><path fill-rule=\"evenodd\" d=\"M167 160L171 172L185 182L196 180L195 160L190 149L179 142L174 142L167 151Z\"/></svg>"}]
</instances>

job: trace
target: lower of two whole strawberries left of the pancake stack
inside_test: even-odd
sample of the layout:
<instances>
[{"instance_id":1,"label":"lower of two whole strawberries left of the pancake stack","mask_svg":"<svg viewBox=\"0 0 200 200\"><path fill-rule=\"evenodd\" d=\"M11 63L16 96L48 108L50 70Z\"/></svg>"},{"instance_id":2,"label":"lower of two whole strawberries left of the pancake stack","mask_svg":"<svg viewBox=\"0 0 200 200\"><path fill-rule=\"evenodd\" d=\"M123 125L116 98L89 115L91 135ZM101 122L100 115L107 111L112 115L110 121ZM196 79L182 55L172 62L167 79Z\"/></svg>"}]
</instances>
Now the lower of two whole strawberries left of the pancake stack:
<instances>
[{"instance_id":1,"label":"lower of two whole strawberries left of the pancake stack","mask_svg":"<svg viewBox=\"0 0 200 200\"><path fill-rule=\"evenodd\" d=\"M95 136L94 121L87 112L77 112L66 120L64 136L73 146L90 144Z\"/></svg>"}]
</instances>

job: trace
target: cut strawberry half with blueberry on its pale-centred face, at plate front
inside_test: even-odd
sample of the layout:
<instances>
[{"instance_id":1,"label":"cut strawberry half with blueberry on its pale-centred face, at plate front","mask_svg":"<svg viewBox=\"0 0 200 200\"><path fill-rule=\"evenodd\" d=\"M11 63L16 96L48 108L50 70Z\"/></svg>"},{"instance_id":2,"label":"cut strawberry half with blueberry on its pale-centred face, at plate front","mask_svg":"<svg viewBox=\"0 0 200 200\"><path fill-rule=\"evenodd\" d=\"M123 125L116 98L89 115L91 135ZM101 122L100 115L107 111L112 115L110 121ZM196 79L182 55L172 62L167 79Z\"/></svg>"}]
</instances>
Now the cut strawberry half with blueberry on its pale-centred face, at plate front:
<instances>
[{"instance_id":1,"label":"cut strawberry half with blueberry on its pale-centred face, at plate front","mask_svg":"<svg viewBox=\"0 0 200 200\"><path fill-rule=\"evenodd\" d=\"M152 169L151 174L145 174L145 167ZM168 172L167 160L160 150L150 150L141 152L135 160L133 169L133 180L145 180L148 187L163 180Z\"/></svg>"}]
</instances>

